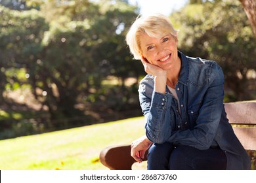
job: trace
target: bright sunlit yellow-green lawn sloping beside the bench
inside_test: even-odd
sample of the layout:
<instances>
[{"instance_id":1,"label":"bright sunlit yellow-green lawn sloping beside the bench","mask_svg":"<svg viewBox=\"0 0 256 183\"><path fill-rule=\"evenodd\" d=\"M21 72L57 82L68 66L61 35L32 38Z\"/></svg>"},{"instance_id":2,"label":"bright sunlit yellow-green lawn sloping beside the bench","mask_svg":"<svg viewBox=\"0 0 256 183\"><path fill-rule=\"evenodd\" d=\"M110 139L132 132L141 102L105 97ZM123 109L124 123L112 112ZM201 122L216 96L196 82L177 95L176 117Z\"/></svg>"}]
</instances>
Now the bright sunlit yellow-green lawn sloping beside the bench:
<instances>
[{"instance_id":1,"label":"bright sunlit yellow-green lawn sloping beside the bench","mask_svg":"<svg viewBox=\"0 0 256 183\"><path fill-rule=\"evenodd\" d=\"M130 144L144 134L142 117L0 141L1 170L104 170L106 146Z\"/></svg>"}]
</instances>

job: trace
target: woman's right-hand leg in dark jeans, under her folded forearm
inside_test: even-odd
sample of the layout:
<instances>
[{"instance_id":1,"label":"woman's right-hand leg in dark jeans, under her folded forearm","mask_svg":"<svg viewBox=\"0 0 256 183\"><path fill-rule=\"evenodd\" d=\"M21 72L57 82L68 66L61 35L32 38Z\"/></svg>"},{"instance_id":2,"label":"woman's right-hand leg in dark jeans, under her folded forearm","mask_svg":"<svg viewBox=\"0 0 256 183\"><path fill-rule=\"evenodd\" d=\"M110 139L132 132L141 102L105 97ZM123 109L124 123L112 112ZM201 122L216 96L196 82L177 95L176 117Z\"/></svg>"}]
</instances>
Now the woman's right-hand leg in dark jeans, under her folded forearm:
<instances>
[{"instance_id":1,"label":"woman's right-hand leg in dark jeans, under her folded forearm","mask_svg":"<svg viewBox=\"0 0 256 183\"><path fill-rule=\"evenodd\" d=\"M190 146L178 146L171 153L169 169L222 170L226 169L226 155L220 148L198 150Z\"/></svg>"}]
</instances>

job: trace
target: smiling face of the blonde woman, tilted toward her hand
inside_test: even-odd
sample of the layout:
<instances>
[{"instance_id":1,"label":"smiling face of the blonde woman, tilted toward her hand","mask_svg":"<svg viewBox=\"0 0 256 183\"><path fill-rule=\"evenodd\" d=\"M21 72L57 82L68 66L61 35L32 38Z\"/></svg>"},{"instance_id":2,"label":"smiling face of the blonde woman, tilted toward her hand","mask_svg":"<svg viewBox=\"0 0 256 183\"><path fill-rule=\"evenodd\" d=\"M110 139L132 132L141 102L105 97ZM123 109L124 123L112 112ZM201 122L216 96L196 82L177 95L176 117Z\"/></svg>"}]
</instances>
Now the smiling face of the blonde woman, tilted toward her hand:
<instances>
[{"instance_id":1,"label":"smiling face of the blonde woman, tilted toward her hand","mask_svg":"<svg viewBox=\"0 0 256 183\"><path fill-rule=\"evenodd\" d=\"M171 34L167 33L159 39L142 33L139 39L142 56L149 63L157 65L163 70L175 69L175 63L179 57L177 41Z\"/></svg>"}]
</instances>

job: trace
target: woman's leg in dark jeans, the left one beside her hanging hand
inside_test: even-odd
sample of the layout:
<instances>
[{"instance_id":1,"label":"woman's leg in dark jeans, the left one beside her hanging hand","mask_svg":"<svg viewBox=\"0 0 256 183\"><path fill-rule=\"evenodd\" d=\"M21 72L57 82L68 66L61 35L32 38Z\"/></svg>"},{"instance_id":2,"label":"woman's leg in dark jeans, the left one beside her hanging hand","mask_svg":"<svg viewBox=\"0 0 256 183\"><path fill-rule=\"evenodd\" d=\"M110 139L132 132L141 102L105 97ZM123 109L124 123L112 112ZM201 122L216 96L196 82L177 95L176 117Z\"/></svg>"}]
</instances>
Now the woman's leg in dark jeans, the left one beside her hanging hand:
<instances>
[{"instance_id":1,"label":"woman's leg in dark jeans, the left one beside her hanging hand","mask_svg":"<svg viewBox=\"0 0 256 183\"><path fill-rule=\"evenodd\" d=\"M152 144L148 150L148 170L167 170L174 146L168 142Z\"/></svg>"}]
</instances>

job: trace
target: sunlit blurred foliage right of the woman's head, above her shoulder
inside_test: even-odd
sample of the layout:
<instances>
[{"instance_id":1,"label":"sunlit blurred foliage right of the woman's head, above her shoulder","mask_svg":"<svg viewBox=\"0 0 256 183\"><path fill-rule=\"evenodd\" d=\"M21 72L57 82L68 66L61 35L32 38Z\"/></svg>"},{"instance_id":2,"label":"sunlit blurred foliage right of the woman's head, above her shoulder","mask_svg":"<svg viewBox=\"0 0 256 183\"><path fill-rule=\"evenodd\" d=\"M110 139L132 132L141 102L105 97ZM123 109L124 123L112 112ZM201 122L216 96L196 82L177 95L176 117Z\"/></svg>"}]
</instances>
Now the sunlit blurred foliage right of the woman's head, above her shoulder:
<instances>
[{"instance_id":1,"label":"sunlit blurred foliage right of the woman's head, above her shoulder","mask_svg":"<svg viewBox=\"0 0 256 183\"><path fill-rule=\"evenodd\" d=\"M189 56L217 61L234 101L248 100L247 73L256 69L256 41L239 1L186 5L171 16L179 25L179 47Z\"/></svg>"}]
</instances>

